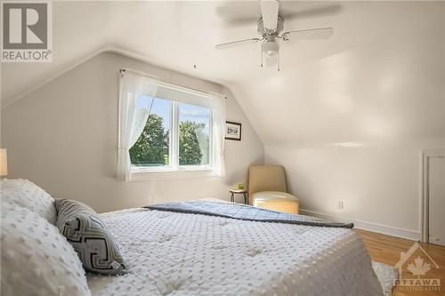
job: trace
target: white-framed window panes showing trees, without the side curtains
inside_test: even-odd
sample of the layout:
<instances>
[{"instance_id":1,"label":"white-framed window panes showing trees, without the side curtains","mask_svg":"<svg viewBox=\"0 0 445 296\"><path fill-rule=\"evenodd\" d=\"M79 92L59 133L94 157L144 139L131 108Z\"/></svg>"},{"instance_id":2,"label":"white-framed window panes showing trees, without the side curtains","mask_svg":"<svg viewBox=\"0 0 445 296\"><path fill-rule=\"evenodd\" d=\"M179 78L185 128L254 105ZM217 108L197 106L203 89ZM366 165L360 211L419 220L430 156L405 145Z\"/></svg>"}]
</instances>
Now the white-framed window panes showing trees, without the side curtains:
<instances>
[{"instance_id":1,"label":"white-framed window panes showing trees, without the side curtains","mask_svg":"<svg viewBox=\"0 0 445 296\"><path fill-rule=\"evenodd\" d=\"M132 171L211 170L209 100L203 94L166 84L158 84L155 97L140 95L136 110L146 108L149 116L129 149Z\"/></svg>"}]
</instances>

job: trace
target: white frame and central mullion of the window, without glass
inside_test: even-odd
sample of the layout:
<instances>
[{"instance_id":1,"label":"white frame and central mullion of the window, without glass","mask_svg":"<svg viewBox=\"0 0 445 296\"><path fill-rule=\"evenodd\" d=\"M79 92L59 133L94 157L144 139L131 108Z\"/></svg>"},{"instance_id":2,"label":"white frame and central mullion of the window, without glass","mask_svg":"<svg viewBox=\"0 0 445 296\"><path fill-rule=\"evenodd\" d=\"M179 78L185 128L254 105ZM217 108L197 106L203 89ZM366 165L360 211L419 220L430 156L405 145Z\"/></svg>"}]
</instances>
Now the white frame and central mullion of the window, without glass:
<instances>
[{"instance_id":1,"label":"white frame and central mullion of the window, without glass","mask_svg":"<svg viewBox=\"0 0 445 296\"><path fill-rule=\"evenodd\" d=\"M193 91L190 89L186 89L182 86L177 86L174 84L165 84L159 83L159 87L166 87L170 89L174 89L179 92L189 92L191 94L205 97L207 100L212 100L205 93ZM168 100L164 98L154 97L154 100ZM168 165L164 166L138 166L131 164L131 173L135 175L140 175L139 177L134 178L135 180L144 180L150 179L150 177L160 177L157 179L168 179L167 175L170 177L183 177L183 172L189 172L190 177L206 177L210 176L210 172L214 170L213 165L213 156L214 156L214 143L213 143L213 118L212 118L212 108L209 109L209 129L208 129L208 164L202 165L180 165L179 164L179 125L180 125L180 104L188 104L190 106L202 107L199 105L193 105L190 102L182 102L179 100L168 100L170 102L170 134L169 134L169 143L168 143ZM194 173L190 173L194 172ZM144 177L145 176L145 177Z\"/></svg>"}]
</instances>

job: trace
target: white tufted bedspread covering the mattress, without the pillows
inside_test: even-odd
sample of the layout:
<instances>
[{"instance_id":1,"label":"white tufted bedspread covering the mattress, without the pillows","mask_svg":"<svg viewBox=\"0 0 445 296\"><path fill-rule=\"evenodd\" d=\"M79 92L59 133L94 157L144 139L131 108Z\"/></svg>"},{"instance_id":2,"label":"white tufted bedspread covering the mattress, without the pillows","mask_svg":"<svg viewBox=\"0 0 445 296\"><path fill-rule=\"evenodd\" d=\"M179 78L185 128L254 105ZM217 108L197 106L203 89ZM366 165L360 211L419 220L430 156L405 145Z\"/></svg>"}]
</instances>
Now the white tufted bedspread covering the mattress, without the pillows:
<instances>
[{"instance_id":1,"label":"white tufted bedspread covering the mattress, without the pillows","mask_svg":"<svg viewBox=\"0 0 445 296\"><path fill-rule=\"evenodd\" d=\"M125 210L101 215L129 273L93 295L382 295L351 229Z\"/></svg>"}]
</instances>

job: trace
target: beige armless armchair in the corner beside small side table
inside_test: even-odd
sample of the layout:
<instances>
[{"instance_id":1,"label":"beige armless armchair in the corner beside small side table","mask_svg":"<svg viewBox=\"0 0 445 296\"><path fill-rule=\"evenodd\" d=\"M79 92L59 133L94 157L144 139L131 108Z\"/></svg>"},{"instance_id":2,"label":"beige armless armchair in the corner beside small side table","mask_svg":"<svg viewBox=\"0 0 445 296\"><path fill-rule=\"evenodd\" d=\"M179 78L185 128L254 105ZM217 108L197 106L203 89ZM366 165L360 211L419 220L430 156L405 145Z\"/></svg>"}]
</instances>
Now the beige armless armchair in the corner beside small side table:
<instances>
[{"instance_id":1,"label":"beige armless armchair in the corner beside small side table","mask_svg":"<svg viewBox=\"0 0 445 296\"><path fill-rule=\"evenodd\" d=\"M287 193L282 165L250 166L248 192L249 202L254 206L277 212L299 212L298 198Z\"/></svg>"}]
</instances>

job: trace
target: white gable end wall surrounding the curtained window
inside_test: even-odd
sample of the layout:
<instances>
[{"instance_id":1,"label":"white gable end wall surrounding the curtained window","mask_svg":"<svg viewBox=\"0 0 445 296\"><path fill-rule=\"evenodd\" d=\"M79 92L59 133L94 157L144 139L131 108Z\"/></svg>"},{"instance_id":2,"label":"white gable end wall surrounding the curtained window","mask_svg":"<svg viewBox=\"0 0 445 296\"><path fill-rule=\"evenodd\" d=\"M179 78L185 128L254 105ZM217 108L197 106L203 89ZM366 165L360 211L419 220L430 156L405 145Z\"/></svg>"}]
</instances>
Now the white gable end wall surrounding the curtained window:
<instances>
[{"instance_id":1,"label":"white gable end wall surrounding the curtained window","mask_svg":"<svg viewBox=\"0 0 445 296\"><path fill-rule=\"evenodd\" d=\"M173 84L225 92L227 119L242 124L242 141L226 140L226 177L121 182L117 163L118 70L132 68ZM263 164L263 144L228 90L112 52L101 53L2 109L8 178L27 178L51 195L98 212L173 200L228 199L249 164Z\"/></svg>"}]
</instances>

